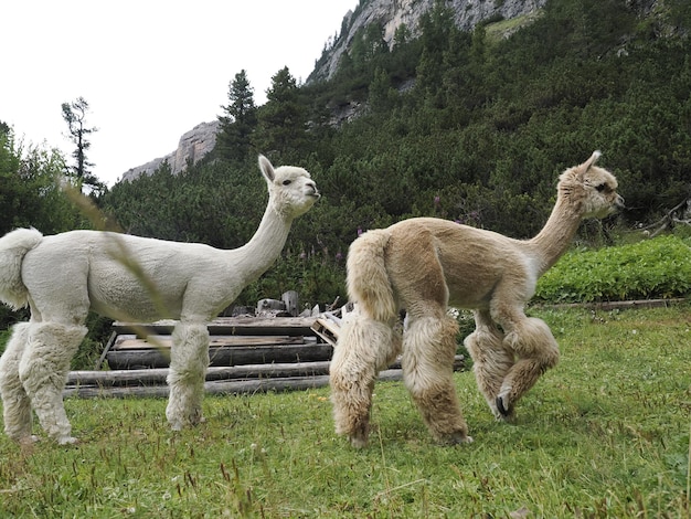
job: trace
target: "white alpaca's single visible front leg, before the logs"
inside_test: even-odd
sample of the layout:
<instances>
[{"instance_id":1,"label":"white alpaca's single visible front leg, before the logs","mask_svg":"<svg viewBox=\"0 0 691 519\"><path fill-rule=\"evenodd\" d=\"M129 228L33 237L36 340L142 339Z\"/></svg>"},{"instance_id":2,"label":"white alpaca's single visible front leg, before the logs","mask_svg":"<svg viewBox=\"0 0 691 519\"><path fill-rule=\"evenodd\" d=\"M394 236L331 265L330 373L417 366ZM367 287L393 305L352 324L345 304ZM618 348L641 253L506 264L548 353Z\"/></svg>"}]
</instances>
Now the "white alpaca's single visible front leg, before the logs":
<instances>
[{"instance_id":1,"label":"white alpaca's single visible front leg, before the logs","mask_svg":"<svg viewBox=\"0 0 691 519\"><path fill-rule=\"evenodd\" d=\"M166 417L173 431L203 421L202 401L209 368L209 330L203 324L180 322L172 333Z\"/></svg>"}]
</instances>

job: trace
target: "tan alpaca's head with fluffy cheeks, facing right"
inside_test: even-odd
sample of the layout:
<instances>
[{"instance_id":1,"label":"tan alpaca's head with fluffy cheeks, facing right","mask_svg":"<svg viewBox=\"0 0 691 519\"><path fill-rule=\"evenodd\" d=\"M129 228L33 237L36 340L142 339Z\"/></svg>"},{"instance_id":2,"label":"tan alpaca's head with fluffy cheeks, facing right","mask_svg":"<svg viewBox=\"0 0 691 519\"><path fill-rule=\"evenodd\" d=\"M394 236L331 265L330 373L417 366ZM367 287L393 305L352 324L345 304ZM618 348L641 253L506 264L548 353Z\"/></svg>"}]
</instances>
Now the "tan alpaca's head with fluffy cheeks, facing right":
<instances>
[{"instance_id":1,"label":"tan alpaca's head with fluffy cheeks, facing right","mask_svg":"<svg viewBox=\"0 0 691 519\"><path fill-rule=\"evenodd\" d=\"M559 178L559 197L576 206L583 219L605 218L624 209L624 198L617 193L617 179L595 166L600 155L595 151L588 160L567 169Z\"/></svg>"}]
</instances>

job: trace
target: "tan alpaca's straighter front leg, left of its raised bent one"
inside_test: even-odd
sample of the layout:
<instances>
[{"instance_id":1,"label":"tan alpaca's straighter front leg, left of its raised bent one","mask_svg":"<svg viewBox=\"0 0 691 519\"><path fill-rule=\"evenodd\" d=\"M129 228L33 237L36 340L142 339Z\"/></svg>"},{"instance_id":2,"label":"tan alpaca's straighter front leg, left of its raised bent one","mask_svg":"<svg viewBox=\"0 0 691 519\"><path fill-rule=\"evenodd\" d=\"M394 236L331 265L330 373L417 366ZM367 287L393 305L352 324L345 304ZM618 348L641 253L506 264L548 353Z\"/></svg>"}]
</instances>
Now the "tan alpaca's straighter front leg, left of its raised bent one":
<instances>
[{"instance_id":1,"label":"tan alpaca's straighter front leg, left of its raised bent one","mask_svg":"<svg viewBox=\"0 0 691 519\"><path fill-rule=\"evenodd\" d=\"M513 366L514 356L503 345L503 333L497 328L488 311L475 313L476 329L464 341L472 358L472 371L478 388L496 419L507 415L497 409L501 384Z\"/></svg>"}]
</instances>

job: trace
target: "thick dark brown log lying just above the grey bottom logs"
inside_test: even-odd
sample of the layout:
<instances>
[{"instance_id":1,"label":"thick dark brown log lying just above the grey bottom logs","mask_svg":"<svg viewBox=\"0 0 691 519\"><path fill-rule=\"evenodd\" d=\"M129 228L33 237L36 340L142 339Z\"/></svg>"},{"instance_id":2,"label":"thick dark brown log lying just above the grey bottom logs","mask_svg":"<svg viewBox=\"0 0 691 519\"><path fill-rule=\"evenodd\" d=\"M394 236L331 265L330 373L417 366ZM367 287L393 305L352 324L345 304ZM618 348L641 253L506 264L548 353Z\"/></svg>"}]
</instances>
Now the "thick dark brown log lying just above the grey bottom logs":
<instances>
[{"instance_id":1,"label":"thick dark brown log lying just above the grey bottom logs","mask_svg":"<svg viewBox=\"0 0 691 519\"><path fill-rule=\"evenodd\" d=\"M266 364L272 362L307 362L330 360L330 345L287 345L258 347L210 348L210 366ZM167 368L170 356L164 349L110 350L106 360L111 370L132 368Z\"/></svg>"}]
</instances>

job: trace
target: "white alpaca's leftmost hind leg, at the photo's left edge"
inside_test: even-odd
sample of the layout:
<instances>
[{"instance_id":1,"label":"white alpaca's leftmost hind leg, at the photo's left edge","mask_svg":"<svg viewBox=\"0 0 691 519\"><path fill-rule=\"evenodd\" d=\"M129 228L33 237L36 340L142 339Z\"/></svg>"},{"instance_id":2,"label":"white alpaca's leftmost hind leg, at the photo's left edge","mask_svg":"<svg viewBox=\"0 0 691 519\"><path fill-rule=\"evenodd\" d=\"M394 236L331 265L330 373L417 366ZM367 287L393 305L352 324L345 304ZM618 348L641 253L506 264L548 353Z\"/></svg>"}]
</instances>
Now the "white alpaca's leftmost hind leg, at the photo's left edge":
<instances>
[{"instance_id":1,"label":"white alpaca's leftmost hind leg, at the photo's left edge","mask_svg":"<svg viewBox=\"0 0 691 519\"><path fill-rule=\"evenodd\" d=\"M6 434L18 442L31 436L31 401L19 378L19 362L29 341L29 322L12 328L12 336L0 357L0 395Z\"/></svg>"}]
</instances>

